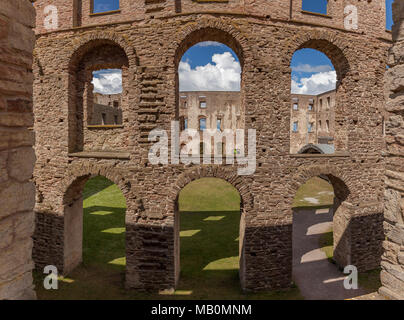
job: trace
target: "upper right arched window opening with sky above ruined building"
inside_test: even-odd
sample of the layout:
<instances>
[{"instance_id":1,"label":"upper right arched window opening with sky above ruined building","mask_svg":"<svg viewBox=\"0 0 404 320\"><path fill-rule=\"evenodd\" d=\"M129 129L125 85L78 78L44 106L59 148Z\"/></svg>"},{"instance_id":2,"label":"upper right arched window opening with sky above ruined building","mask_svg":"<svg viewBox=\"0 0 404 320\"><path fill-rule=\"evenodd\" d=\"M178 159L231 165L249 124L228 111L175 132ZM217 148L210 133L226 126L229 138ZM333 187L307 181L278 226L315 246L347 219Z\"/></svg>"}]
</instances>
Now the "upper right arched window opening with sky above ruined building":
<instances>
[{"instance_id":1,"label":"upper right arched window opening with sky above ruined building","mask_svg":"<svg viewBox=\"0 0 404 320\"><path fill-rule=\"evenodd\" d=\"M304 48L295 52L291 61L291 133L290 153L303 147L333 151L337 71L331 60L319 50ZM329 121L328 130L321 123Z\"/></svg>"}]
</instances>

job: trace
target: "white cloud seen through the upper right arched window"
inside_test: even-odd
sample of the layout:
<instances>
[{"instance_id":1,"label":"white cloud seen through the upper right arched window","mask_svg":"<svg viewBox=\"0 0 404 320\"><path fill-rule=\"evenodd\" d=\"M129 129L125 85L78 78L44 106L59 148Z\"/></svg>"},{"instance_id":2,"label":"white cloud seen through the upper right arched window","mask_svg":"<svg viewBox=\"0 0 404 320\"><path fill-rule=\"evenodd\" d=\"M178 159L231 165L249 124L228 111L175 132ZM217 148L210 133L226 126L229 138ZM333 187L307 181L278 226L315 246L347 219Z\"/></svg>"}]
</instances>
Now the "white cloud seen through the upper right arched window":
<instances>
[{"instance_id":1,"label":"white cloud seen through the upper right arched window","mask_svg":"<svg viewBox=\"0 0 404 320\"><path fill-rule=\"evenodd\" d=\"M337 83L335 71L315 73L308 78L292 79L292 93L317 95L334 90Z\"/></svg>"}]
</instances>

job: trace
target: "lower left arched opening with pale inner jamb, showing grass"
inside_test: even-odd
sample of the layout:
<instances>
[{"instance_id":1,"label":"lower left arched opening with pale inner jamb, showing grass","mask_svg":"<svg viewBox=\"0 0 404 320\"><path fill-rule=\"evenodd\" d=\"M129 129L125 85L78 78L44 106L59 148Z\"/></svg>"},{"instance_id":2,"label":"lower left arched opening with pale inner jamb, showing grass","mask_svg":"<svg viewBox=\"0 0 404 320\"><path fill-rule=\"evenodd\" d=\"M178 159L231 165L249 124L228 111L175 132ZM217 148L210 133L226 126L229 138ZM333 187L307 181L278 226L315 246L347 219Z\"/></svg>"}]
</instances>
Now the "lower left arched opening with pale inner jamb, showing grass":
<instances>
[{"instance_id":1,"label":"lower left arched opening with pale inner jamb, showing grass","mask_svg":"<svg viewBox=\"0 0 404 320\"><path fill-rule=\"evenodd\" d=\"M79 281L85 281L83 273L89 278L108 273L121 281L125 212L122 191L103 176L84 176L69 187L64 197L64 274L80 266L73 273Z\"/></svg>"}]
</instances>

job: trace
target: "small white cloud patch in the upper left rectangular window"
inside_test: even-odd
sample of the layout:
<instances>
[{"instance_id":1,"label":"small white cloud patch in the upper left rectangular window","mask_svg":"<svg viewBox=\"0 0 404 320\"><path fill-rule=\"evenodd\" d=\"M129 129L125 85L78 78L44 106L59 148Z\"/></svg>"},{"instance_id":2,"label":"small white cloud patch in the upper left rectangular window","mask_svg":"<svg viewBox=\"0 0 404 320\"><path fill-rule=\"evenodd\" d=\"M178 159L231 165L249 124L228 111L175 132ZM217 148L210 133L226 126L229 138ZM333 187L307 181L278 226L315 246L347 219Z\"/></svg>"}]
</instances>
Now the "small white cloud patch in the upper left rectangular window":
<instances>
[{"instance_id":1,"label":"small white cloud patch in the upper left rectangular window","mask_svg":"<svg viewBox=\"0 0 404 320\"><path fill-rule=\"evenodd\" d=\"M92 81L94 92L116 94L122 92L122 71L119 69L100 70L94 72Z\"/></svg>"}]
</instances>

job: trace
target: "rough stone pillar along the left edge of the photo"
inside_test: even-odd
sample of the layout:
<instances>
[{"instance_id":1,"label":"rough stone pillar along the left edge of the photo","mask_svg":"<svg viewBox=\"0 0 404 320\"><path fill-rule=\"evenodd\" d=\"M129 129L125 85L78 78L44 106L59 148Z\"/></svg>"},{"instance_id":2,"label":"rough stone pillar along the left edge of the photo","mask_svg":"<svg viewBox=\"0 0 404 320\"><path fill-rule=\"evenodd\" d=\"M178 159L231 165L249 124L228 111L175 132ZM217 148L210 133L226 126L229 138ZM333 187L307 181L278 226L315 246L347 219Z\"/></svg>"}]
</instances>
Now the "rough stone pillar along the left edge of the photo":
<instances>
[{"instance_id":1,"label":"rough stone pillar along the left edge of the photo","mask_svg":"<svg viewBox=\"0 0 404 320\"><path fill-rule=\"evenodd\" d=\"M28 0L0 4L0 300L34 299L32 233L35 153L32 51L35 10Z\"/></svg>"}]
</instances>

